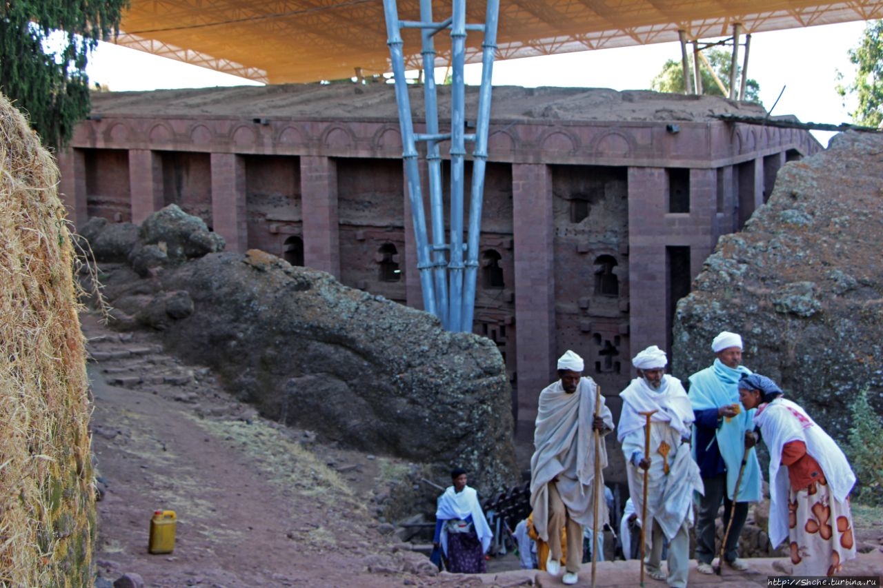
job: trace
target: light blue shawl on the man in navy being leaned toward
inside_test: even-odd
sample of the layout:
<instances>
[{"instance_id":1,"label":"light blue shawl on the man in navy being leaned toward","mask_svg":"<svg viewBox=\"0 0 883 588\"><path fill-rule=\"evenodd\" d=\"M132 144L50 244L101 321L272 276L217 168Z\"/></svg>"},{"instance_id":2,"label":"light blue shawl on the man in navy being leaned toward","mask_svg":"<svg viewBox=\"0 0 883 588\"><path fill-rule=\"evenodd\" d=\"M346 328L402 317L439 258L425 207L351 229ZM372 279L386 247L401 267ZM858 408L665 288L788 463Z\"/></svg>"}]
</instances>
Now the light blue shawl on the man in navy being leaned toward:
<instances>
[{"instance_id":1,"label":"light blue shawl on the man in navy being leaned toward","mask_svg":"<svg viewBox=\"0 0 883 588\"><path fill-rule=\"evenodd\" d=\"M690 403L694 411L705 411L739 402L739 390L736 386L743 373L751 373L745 366L733 369L724 366L720 359L714 360L714 365L694 373L690 376ZM723 461L727 464L727 495L733 499L733 491L736 489L736 478L739 476L739 468L742 465L744 455L744 437L746 431L754 429L754 412L739 412L733 418L721 419L716 437L718 449L721 450ZM694 432L695 433L695 432ZM694 437L695 438L695 437ZM695 448L693 456L695 458ZM736 500L751 502L760 500L760 464L757 452L749 449L748 459L745 463L745 471L742 474L742 482L739 485L739 495Z\"/></svg>"}]
</instances>

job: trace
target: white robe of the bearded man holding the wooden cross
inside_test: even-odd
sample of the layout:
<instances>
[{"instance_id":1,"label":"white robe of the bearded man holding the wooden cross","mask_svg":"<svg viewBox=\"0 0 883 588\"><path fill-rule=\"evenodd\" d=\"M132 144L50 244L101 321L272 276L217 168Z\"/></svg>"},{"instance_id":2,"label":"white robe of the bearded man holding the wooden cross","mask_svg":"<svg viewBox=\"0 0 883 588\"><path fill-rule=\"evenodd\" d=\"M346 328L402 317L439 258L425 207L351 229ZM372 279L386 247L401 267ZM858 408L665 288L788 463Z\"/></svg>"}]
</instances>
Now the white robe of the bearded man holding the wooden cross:
<instances>
[{"instance_id":1,"label":"white robe of the bearded man holding the wooden cross","mask_svg":"<svg viewBox=\"0 0 883 588\"><path fill-rule=\"evenodd\" d=\"M644 512L644 471L631 463L635 452L644 455L646 417L641 412L656 411L650 418L650 469L647 471L647 520L660 525L666 537L674 539L684 520L693 522L693 492L705 494L699 468L691 456L690 445L683 443L693 422L690 399L681 381L666 374L659 390L654 390L643 378L635 378L619 395L623 398L623 413L619 421L619 440L628 465L629 494L635 512ZM658 450L668 444L668 474L666 460ZM649 526L647 527L650 528ZM649 541L650 533L645 535Z\"/></svg>"}]
</instances>

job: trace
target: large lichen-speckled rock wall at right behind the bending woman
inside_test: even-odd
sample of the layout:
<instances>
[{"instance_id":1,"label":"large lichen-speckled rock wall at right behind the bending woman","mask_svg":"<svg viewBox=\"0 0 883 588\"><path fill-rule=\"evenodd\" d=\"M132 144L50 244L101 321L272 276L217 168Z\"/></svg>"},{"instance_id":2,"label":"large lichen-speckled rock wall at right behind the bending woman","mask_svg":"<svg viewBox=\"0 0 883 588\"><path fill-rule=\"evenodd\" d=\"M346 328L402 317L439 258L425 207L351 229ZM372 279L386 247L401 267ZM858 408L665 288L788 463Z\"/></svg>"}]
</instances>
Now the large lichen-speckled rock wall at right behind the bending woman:
<instances>
[{"instance_id":1,"label":"large lichen-speckled rock wall at right behind the bending woman","mask_svg":"<svg viewBox=\"0 0 883 588\"><path fill-rule=\"evenodd\" d=\"M742 232L721 237L677 305L673 372L713 361L721 330L834 438L863 388L883 412L883 137L847 132L789 162Z\"/></svg>"}]
</instances>

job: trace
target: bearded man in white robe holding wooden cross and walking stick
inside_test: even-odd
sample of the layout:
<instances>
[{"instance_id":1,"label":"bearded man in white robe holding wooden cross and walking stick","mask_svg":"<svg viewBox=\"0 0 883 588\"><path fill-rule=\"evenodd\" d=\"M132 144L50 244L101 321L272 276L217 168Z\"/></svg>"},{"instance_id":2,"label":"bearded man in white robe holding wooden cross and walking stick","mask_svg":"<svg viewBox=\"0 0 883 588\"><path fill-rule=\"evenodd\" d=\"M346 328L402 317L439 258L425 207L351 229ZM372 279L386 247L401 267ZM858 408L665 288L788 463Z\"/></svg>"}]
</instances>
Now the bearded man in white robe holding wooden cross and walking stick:
<instances>
[{"instance_id":1,"label":"bearded man in white robe holding wooden cross and walking stick","mask_svg":"<svg viewBox=\"0 0 883 588\"><path fill-rule=\"evenodd\" d=\"M638 377L619 395L623 413L618 439L623 444L630 500L643 518L644 471L647 472L645 549L647 574L669 586L687 585L693 491L703 493L699 468L690 450L693 409L681 381L665 373L665 351L656 345L631 361ZM646 414L650 417L650 455L645 456ZM660 567L668 539L668 574Z\"/></svg>"}]
</instances>

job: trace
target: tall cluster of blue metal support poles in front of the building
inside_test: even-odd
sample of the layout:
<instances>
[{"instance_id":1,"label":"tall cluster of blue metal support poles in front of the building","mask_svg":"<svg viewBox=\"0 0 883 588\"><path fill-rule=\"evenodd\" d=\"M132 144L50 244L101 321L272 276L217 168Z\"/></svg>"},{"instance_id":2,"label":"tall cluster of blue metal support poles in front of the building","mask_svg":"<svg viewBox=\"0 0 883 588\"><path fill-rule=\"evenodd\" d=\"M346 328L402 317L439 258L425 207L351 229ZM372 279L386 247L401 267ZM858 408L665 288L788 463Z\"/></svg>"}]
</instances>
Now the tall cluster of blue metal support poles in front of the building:
<instances>
[{"instance_id":1,"label":"tall cluster of blue metal support poles in front of the building","mask_svg":"<svg viewBox=\"0 0 883 588\"><path fill-rule=\"evenodd\" d=\"M491 77L496 51L499 0L487 0L486 25L466 24L465 0L453 0L451 16L433 21L431 0L420 0L420 20L398 18L396 0L383 0L389 54L396 83L396 104L402 129L402 145L408 194L411 201L414 237L417 245L420 287L426 311L434 313L442 325L452 331L471 331L475 308L475 289L479 267L481 210L487 162L487 133L490 127ZM404 78L402 28L420 28L423 67L425 72L424 100L426 133L415 133L411 102ZM451 35L451 123L450 132L439 129L438 101L434 79L434 35L443 30ZM479 109L476 132L467 134L465 113L464 64L466 32L484 32L482 43L482 74L479 88ZM433 243L426 235L423 195L417 165L416 141L426 141L426 160L432 215ZM442 206L442 156L439 142L450 141L450 218L449 237L445 239ZM472 185L470 192L469 230L464 244L465 144L474 141L472 153ZM430 253L432 260L430 260ZM465 254L465 262L464 262ZM447 261L446 261L447 260Z\"/></svg>"}]
</instances>

